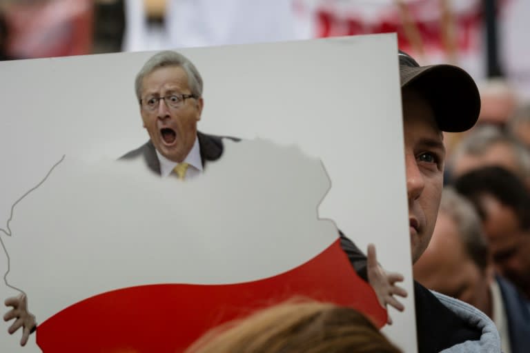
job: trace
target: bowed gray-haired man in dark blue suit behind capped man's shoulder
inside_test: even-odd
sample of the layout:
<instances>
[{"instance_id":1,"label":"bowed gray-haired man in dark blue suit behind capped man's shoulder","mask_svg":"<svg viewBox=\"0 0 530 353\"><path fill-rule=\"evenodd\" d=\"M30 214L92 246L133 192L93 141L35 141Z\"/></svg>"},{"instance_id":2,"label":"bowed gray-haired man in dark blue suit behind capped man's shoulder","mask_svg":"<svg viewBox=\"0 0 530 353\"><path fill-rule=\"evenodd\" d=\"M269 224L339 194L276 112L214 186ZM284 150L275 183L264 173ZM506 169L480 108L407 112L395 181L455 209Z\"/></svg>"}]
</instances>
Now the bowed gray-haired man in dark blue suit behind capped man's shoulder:
<instances>
[{"instance_id":1,"label":"bowed gray-haired man in dark blue suit behind capped man's shoulder","mask_svg":"<svg viewBox=\"0 0 530 353\"><path fill-rule=\"evenodd\" d=\"M528 352L530 303L509 281L494 274L480 217L452 188L442 192L433 238L413 272L426 288L487 314L499 331L502 352Z\"/></svg>"}]
</instances>

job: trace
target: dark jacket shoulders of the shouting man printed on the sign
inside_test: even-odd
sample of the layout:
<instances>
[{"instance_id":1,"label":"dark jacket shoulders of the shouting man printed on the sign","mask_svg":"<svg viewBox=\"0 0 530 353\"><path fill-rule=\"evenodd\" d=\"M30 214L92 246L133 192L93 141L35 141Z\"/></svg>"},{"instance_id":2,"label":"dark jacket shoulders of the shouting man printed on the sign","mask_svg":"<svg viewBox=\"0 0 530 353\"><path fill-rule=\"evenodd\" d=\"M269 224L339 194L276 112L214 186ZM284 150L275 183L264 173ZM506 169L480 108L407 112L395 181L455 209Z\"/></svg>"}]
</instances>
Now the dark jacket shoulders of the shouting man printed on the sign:
<instances>
[{"instance_id":1,"label":"dark jacket shoulders of the shouting man printed on the sign","mask_svg":"<svg viewBox=\"0 0 530 353\"><path fill-rule=\"evenodd\" d=\"M220 137L215 135L203 134L197 131L197 139L199 140L199 148L201 150L202 165L206 168L208 161L217 161L223 154L222 139L231 139L239 141L234 137ZM119 158L121 161L128 159L143 159L149 170L160 175L160 162L158 161L155 145L150 140L141 145L136 150L132 150L124 156Z\"/></svg>"}]
</instances>

